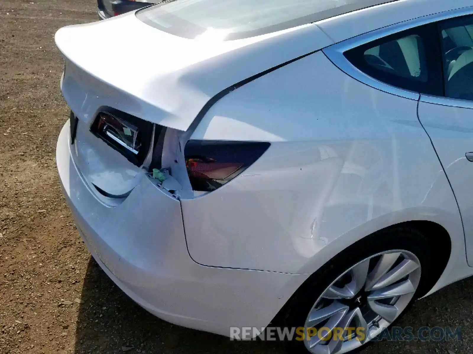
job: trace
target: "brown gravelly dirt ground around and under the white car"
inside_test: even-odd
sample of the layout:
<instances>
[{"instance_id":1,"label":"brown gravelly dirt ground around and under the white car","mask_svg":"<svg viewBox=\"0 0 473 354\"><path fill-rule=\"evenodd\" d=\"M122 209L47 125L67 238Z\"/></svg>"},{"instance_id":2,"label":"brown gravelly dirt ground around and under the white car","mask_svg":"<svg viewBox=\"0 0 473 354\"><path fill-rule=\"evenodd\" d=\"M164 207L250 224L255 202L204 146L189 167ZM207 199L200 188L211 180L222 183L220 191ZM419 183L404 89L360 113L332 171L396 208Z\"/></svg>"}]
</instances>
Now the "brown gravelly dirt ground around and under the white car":
<instances>
[{"instance_id":1,"label":"brown gravelly dirt ground around and under the white car","mask_svg":"<svg viewBox=\"0 0 473 354\"><path fill-rule=\"evenodd\" d=\"M68 118L54 33L96 21L95 0L0 0L0 354L284 353L159 320L91 259L61 195ZM473 353L472 280L420 300L401 326L462 327L463 341L382 342L365 353Z\"/></svg>"}]
</instances>

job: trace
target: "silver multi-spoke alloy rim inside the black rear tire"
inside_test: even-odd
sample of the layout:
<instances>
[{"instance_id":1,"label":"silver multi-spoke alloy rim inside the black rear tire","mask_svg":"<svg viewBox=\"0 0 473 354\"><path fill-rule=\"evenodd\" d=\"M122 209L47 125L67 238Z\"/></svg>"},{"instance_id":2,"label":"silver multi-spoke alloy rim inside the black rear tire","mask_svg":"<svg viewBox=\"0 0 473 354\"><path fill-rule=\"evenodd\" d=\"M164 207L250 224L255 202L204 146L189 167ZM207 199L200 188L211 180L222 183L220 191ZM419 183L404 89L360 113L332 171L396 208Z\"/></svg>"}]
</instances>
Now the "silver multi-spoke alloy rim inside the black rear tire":
<instances>
[{"instance_id":1,"label":"silver multi-spoke alloy rim inside the black rear tire","mask_svg":"<svg viewBox=\"0 0 473 354\"><path fill-rule=\"evenodd\" d=\"M342 354L375 338L404 311L420 282L411 252L374 254L327 287L307 315L305 345L313 354Z\"/></svg>"}]
</instances>

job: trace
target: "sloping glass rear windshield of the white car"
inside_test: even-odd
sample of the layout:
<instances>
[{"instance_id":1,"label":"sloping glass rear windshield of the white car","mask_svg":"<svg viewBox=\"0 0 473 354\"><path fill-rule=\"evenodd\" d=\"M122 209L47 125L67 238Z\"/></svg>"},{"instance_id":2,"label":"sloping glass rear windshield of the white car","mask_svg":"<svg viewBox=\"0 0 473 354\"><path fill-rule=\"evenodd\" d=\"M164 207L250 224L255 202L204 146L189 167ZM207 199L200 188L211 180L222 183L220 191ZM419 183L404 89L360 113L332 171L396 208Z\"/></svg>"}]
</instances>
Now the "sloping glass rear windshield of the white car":
<instances>
[{"instance_id":1,"label":"sloping glass rear windshield of the white car","mask_svg":"<svg viewBox=\"0 0 473 354\"><path fill-rule=\"evenodd\" d=\"M395 0L165 0L138 11L136 16L184 38L234 40L391 1Z\"/></svg>"}]
</instances>

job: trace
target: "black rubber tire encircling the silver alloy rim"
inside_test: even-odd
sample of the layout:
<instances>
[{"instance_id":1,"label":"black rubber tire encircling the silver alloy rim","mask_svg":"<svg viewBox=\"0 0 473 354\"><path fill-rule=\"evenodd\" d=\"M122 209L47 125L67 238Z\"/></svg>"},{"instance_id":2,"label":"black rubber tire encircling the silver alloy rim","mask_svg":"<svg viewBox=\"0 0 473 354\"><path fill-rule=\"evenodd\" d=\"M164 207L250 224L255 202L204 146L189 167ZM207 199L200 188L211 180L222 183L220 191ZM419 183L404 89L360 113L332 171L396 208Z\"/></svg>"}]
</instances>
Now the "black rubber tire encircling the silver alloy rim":
<instances>
[{"instance_id":1,"label":"black rubber tire encircling the silver alloy rim","mask_svg":"<svg viewBox=\"0 0 473 354\"><path fill-rule=\"evenodd\" d=\"M431 284L431 282L429 282L429 278L432 276L431 250L425 236L415 228L395 227L385 229L367 236L343 250L342 253L339 253L332 260L327 262L299 287L296 293L291 296L286 305L278 313L271 326L275 325L289 328L304 327L307 314L315 301L339 275L350 269L350 267L359 261L374 254L393 249L402 249L412 252L417 256L421 265L419 287L412 297L411 303L394 321L394 323L397 322L402 315L409 310L413 302L419 297L419 294L425 294L424 290L426 284ZM365 349L369 343L371 342L366 343L350 353ZM286 344L291 353L294 353L296 350L298 353L309 353L304 341L292 340Z\"/></svg>"}]
</instances>

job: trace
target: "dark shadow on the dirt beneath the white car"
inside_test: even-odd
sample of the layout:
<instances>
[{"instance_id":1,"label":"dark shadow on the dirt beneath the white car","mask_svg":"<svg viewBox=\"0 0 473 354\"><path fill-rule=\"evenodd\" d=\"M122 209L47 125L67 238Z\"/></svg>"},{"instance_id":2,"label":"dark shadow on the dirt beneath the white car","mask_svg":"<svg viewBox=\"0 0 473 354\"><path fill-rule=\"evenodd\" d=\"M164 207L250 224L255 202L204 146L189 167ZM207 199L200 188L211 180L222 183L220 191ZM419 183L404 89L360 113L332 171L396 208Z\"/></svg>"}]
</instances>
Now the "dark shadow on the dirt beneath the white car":
<instances>
[{"instance_id":1,"label":"dark shadow on the dirt beneath the white car","mask_svg":"<svg viewBox=\"0 0 473 354\"><path fill-rule=\"evenodd\" d=\"M398 326L461 327L469 336L473 313L473 280L451 285L416 303ZM131 301L91 258L82 288L75 353L288 353L274 342L234 342L226 337L185 329L159 320ZM129 349L133 347L133 349ZM461 341L379 342L363 353L473 353ZM451 351L451 352L449 352Z\"/></svg>"}]
</instances>

